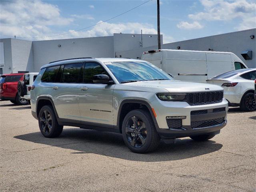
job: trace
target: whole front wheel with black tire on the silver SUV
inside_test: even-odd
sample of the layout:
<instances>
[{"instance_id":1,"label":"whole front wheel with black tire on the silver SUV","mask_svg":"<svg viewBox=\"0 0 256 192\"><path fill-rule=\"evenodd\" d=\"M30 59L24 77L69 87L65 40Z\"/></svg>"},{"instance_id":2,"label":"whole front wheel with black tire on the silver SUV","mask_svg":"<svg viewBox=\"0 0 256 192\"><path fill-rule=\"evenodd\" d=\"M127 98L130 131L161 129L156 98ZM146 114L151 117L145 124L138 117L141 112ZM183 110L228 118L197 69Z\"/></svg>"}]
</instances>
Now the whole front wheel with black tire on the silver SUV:
<instances>
[{"instance_id":1,"label":"whole front wheel with black tire on the silver SUV","mask_svg":"<svg viewBox=\"0 0 256 192\"><path fill-rule=\"evenodd\" d=\"M135 153L153 151L160 142L150 113L141 109L132 110L125 116L122 136L126 146Z\"/></svg>"}]
</instances>

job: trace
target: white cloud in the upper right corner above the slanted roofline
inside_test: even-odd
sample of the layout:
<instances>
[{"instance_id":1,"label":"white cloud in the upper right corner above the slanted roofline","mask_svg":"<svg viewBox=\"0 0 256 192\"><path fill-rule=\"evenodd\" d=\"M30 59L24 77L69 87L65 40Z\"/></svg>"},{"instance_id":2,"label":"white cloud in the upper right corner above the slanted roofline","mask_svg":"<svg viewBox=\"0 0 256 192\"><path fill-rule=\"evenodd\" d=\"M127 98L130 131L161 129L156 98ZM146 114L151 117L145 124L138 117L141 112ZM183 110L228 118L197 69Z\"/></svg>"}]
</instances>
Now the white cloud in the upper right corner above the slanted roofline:
<instances>
[{"instance_id":1,"label":"white cloud in the upper right corner above the slanted roofline","mask_svg":"<svg viewBox=\"0 0 256 192\"><path fill-rule=\"evenodd\" d=\"M204 6L204 11L189 14L190 19L207 21L241 19L242 22L235 27L237 30L256 27L256 1L254 0L200 0L200 2Z\"/></svg>"}]
</instances>

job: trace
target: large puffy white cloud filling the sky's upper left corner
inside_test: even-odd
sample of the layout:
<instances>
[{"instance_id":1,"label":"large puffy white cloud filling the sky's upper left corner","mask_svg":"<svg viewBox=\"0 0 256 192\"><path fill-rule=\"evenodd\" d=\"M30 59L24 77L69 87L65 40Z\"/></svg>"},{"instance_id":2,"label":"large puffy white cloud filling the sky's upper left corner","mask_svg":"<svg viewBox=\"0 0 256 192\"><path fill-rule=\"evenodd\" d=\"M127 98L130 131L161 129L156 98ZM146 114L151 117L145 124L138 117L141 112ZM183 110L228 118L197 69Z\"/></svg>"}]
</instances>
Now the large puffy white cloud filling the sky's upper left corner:
<instances>
[{"instance_id":1,"label":"large puffy white cloud filling the sky's upper left corner","mask_svg":"<svg viewBox=\"0 0 256 192\"><path fill-rule=\"evenodd\" d=\"M0 1L0 33L11 36L45 36L49 26L68 25L74 18L61 16L58 6L35 1Z\"/></svg>"}]
</instances>

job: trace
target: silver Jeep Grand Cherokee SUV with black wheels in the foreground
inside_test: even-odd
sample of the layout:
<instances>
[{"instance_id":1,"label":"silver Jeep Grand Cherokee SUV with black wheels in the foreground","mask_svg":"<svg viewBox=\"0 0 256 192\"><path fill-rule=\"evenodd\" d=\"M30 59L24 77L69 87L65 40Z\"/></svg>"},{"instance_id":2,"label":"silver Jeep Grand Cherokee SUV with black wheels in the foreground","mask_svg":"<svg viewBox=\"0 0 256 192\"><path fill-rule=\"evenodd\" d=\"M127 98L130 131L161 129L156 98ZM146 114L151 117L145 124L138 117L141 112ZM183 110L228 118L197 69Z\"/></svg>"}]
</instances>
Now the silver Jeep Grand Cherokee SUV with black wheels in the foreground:
<instances>
[{"instance_id":1,"label":"silver Jeep Grand Cherokee SUV with black wheels in the foreground","mask_svg":"<svg viewBox=\"0 0 256 192\"><path fill-rule=\"evenodd\" d=\"M176 81L142 60L51 62L42 66L30 94L45 137L59 136L63 126L118 132L136 153L156 149L161 138L205 141L227 123L220 86Z\"/></svg>"}]
</instances>

